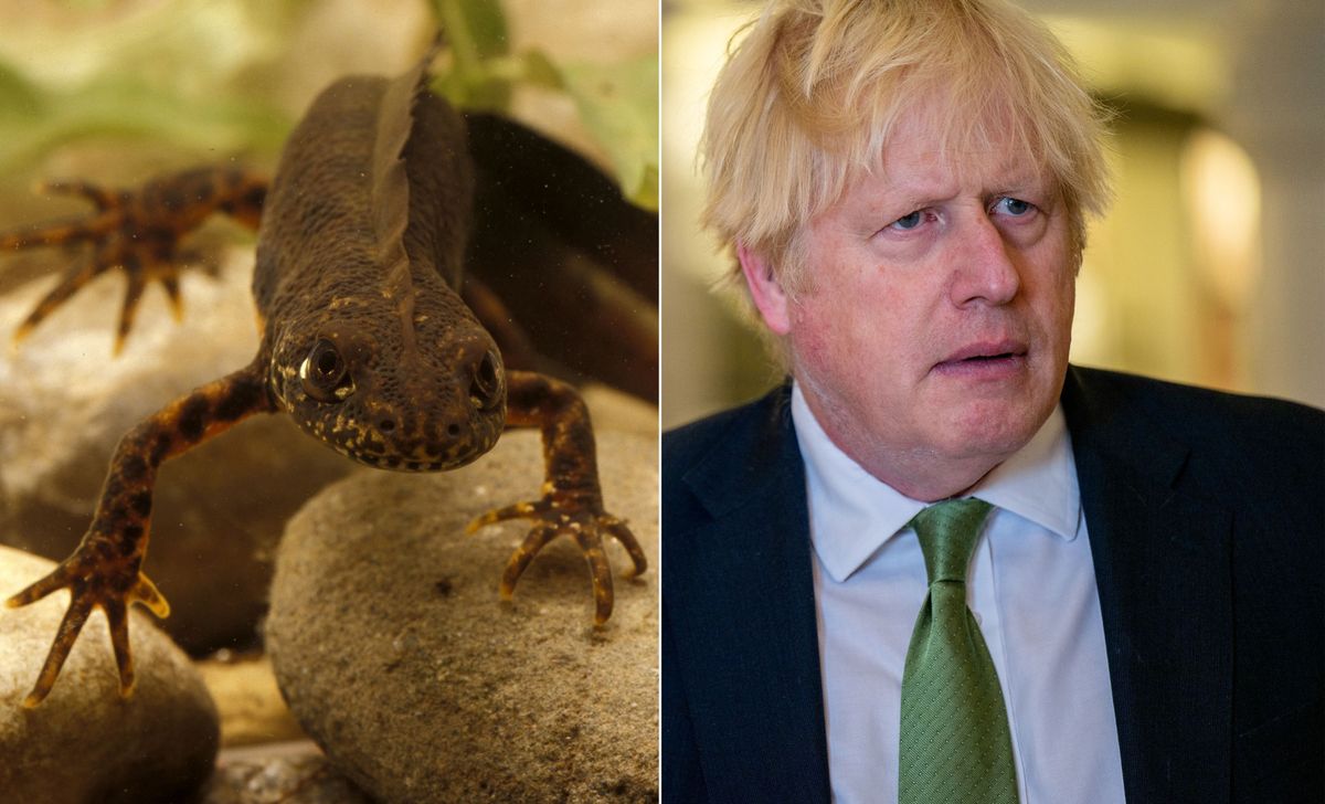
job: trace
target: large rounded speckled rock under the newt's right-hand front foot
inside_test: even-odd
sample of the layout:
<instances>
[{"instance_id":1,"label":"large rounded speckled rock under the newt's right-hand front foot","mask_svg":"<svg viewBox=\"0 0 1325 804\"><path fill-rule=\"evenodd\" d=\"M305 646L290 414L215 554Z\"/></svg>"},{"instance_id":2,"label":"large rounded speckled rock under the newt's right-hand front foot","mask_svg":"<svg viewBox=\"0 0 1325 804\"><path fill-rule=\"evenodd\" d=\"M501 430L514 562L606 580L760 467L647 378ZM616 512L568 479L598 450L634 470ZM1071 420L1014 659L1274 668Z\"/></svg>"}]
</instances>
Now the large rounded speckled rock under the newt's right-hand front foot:
<instances>
[{"instance_id":1,"label":"large rounded speckled rock under the newt's right-hand front foot","mask_svg":"<svg viewBox=\"0 0 1325 804\"><path fill-rule=\"evenodd\" d=\"M305 730L383 801L653 801L657 797L657 441L599 432L608 510L652 563L592 627L584 559L556 539L511 603L497 580L525 522L464 534L537 495L534 432L435 476L364 472L290 522L268 650Z\"/></svg>"}]
</instances>

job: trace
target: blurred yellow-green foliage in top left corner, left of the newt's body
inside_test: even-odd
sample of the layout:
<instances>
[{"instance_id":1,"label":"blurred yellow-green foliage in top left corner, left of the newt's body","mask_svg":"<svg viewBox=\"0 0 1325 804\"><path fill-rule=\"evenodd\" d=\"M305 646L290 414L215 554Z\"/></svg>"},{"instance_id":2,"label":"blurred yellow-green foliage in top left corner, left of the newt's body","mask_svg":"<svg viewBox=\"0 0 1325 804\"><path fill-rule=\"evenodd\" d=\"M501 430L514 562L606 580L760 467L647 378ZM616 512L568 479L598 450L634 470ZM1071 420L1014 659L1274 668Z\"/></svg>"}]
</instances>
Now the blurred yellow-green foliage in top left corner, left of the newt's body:
<instances>
[{"instance_id":1,"label":"blurred yellow-green foliage in top left corner, left of the newt's body","mask_svg":"<svg viewBox=\"0 0 1325 804\"><path fill-rule=\"evenodd\" d=\"M34 5L45 16L23 25L0 23L9 28L0 32L0 172L106 136L197 152L277 151L292 121L245 91L242 70L270 57L306 4L182 1L123 12L68 0Z\"/></svg>"}]
</instances>

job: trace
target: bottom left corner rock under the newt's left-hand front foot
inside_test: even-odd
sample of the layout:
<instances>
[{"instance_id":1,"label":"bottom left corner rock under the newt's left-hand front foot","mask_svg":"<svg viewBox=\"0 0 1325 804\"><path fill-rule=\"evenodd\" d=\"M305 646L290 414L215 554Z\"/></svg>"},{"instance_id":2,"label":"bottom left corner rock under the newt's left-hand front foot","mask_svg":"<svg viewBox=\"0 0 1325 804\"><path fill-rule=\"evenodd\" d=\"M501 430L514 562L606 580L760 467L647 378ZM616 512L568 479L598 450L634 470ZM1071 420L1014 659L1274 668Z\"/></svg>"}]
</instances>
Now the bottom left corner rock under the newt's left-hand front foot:
<instances>
[{"instance_id":1,"label":"bottom left corner rock under the newt's left-hand front foot","mask_svg":"<svg viewBox=\"0 0 1325 804\"><path fill-rule=\"evenodd\" d=\"M54 567L0 547L0 597ZM119 697L106 617L87 620L50 695L21 701L37 679L68 593L0 608L0 800L42 804L178 801L201 784L216 756L216 709L188 657L134 611L136 686Z\"/></svg>"}]
</instances>

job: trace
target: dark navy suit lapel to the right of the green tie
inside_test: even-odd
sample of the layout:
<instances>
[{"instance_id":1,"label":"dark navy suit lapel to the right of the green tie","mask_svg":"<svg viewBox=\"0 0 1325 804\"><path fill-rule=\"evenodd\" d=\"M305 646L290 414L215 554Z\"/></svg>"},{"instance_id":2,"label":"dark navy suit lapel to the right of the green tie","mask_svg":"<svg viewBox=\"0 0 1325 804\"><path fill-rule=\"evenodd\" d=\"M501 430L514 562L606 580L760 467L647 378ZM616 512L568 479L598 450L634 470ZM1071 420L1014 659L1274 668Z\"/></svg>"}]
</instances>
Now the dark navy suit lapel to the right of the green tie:
<instances>
[{"instance_id":1,"label":"dark navy suit lapel to the right of the green tie","mask_svg":"<svg viewBox=\"0 0 1325 804\"><path fill-rule=\"evenodd\" d=\"M1189 449L1138 395L1063 392L1094 558L1129 801L1228 800L1231 517L1183 487Z\"/></svg>"}]
</instances>

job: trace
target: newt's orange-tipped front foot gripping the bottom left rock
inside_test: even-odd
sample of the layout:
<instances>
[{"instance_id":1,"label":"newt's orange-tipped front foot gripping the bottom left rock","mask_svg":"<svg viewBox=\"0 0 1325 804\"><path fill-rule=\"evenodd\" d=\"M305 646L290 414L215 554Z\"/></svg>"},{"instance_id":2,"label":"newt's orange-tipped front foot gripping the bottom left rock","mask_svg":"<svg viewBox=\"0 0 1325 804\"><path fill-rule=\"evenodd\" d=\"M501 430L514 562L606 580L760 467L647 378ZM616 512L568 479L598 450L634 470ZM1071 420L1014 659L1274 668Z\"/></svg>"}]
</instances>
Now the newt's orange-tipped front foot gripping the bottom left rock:
<instances>
[{"instance_id":1,"label":"newt's orange-tipped front foot gripping the bottom left rock","mask_svg":"<svg viewBox=\"0 0 1325 804\"><path fill-rule=\"evenodd\" d=\"M69 608L50 644L37 683L24 698L23 705L32 709L50 693L60 669L78 638L78 632L94 608L106 612L110 644L119 670L119 694L122 698L130 697L134 691L134 657L129 648L129 607L140 603L158 617L166 617L170 615L166 597L136 570L136 563L106 562L94 551L80 547L49 575L9 597L5 605L9 608L28 605L58 589L70 591Z\"/></svg>"}]
</instances>

